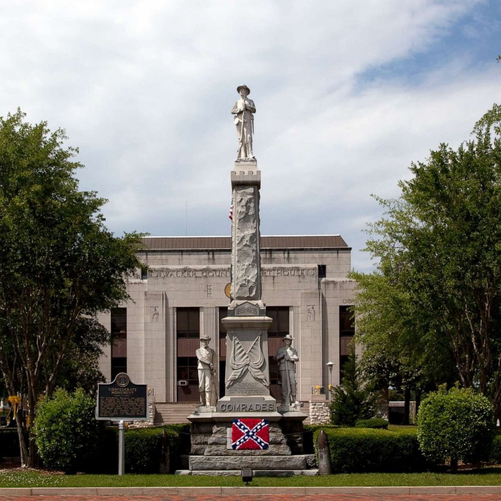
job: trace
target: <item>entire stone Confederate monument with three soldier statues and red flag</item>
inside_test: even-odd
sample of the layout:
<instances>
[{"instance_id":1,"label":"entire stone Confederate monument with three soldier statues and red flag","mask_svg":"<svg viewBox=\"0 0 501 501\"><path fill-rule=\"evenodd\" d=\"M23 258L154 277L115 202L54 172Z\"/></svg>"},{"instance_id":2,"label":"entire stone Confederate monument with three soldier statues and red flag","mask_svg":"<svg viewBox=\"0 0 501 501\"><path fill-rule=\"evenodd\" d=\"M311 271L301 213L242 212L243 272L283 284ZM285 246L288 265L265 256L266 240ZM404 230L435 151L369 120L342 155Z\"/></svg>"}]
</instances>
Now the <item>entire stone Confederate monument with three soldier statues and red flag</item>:
<instances>
[{"instance_id":1,"label":"entire stone Confederate monument with three soldier statues and red flag","mask_svg":"<svg viewBox=\"0 0 501 501\"><path fill-rule=\"evenodd\" d=\"M238 153L231 170L233 217L231 228L231 281L226 327L225 394L214 407L218 361L201 337L196 350L202 405L188 416L191 421L189 469L179 474L255 475L316 474L313 455L303 454L303 420L296 400L297 351L291 337L278 350L282 371L282 405L270 394L268 328L261 299L259 190L261 171L253 153L256 107L247 98L246 85L237 87L240 99L231 113L238 134ZM285 382L284 382L285 381ZM214 388L214 389L211 389Z\"/></svg>"}]
</instances>

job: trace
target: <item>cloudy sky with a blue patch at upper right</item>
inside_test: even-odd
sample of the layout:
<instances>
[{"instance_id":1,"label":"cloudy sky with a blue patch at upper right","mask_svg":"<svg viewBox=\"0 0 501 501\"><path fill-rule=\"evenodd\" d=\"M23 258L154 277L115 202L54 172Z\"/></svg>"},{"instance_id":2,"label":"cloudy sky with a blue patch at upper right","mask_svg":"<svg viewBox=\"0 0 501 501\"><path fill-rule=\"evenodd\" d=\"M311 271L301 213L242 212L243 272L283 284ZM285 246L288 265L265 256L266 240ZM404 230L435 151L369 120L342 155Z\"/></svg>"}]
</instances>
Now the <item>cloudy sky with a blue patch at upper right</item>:
<instances>
[{"instance_id":1,"label":"cloudy sky with a blue patch at upper right","mask_svg":"<svg viewBox=\"0 0 501 501\"><path fill-rule=\"evenodd\" d=\"M369 272L371 194L470 137L499 54L499 0L3 0L0 116L66 130L116 235L230 235L246 84L261 234L340 234Z\"/></svg>"}]
</instances>

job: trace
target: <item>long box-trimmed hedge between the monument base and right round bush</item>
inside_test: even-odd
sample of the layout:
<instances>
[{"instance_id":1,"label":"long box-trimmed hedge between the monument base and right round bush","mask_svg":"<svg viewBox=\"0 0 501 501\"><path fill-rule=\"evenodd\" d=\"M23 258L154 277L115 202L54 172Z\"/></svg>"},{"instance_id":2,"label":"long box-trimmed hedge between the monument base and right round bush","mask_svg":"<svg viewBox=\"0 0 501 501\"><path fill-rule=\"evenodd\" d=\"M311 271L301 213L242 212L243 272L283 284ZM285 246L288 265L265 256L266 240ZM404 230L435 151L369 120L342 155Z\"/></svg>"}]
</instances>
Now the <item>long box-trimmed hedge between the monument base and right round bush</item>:
<instances>
[{"instance_id":1,"label":"long box-trimmed hedge between the monument base and right round bush","mask_svg":"<svg viewBox=\"0 0 501 501\"><path fill-rule=\"evenodd\" d=\"M332 473L411 472L430 469L419 450L416 430L324 428ZM317 443L320 430L313 434Z\"/></svg>"}]
</instances>

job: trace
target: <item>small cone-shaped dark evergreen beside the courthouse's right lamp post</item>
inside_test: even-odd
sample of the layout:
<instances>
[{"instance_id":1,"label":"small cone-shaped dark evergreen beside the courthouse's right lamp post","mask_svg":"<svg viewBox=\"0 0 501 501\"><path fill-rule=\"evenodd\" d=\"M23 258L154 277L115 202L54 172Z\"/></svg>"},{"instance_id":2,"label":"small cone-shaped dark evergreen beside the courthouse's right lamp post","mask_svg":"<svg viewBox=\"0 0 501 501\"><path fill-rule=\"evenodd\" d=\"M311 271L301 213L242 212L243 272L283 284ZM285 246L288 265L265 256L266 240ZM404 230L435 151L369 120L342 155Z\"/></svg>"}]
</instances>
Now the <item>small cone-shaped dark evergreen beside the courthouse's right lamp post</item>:
<instances>
[{"instance_id":1,"label":"small cone-shaped dark evergreen beside the courthouse's right lamp post","mask_svg":"<svg viewBox=\"0 0 501 501\"><path fill-rule=\"evenodd\" d=\"M364 378L355 354L355 343L343 366L343 378L340 386L331 389L331 422L344 426L355 426L361 419L374 417L375 396L364 384Z\"/></svg>"}]
</instances>

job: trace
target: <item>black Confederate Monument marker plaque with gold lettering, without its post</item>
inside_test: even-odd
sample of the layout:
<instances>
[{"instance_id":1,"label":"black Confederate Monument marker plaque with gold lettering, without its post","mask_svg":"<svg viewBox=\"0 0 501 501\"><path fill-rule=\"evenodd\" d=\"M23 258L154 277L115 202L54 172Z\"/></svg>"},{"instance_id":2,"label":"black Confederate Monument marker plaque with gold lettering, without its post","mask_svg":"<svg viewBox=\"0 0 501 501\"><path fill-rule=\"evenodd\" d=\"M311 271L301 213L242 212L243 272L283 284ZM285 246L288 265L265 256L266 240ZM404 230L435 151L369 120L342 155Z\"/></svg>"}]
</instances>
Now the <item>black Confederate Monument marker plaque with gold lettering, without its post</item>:
<instances>
[{"instance_id":1,"label":"black Confederate Monument marker plaque with gold lettering, without its post","mask_svg":"<svg viewBox=\"0 0 501 501\"><path fill-rule=\"evenodd\" d=\"M125 372L112 383L97 385L96 419L145 421L148 416L146 384L134 384Z\"/></svg>"}]
</instances>

